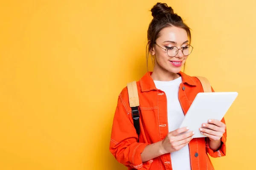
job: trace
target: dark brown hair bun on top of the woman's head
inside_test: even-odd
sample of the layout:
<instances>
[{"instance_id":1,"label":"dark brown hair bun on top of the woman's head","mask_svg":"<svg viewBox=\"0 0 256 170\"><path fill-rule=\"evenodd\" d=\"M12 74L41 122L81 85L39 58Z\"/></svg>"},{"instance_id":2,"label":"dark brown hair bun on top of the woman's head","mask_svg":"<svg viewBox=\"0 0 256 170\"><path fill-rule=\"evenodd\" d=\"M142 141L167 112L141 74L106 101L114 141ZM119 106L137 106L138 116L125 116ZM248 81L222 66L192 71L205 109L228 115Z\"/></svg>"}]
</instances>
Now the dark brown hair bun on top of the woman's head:
<instances>
[{"instance_id":1,"label":"dark brown hair bun on top of the woman's head","mask_svg":"<svg viewBox=\"0 0 256 170\"><path fill-rule=\"evenodd\" d=\"M166 3L157 3L153 6L151 12L154 18L161 14L174 14L172 7L168 6Z\"/></svg>"}]
</instances>

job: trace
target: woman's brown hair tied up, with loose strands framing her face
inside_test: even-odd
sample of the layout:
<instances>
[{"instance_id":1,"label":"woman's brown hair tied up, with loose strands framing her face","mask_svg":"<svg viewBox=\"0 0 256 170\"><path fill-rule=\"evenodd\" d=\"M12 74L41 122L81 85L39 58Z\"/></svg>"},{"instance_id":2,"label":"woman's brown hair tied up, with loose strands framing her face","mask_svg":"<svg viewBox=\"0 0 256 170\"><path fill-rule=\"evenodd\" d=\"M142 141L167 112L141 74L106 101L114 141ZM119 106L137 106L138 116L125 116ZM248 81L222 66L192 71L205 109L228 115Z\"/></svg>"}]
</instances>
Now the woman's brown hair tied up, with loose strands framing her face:
<instances>
[{"instance_id":1,"label":"woman's brown hair tied up, with loose strands framing her face","mask_svg":"<svg viewBox=\"0 0 256 170\"><path fill-rule=\"evenodd\" d=\"M160 37L160 31L168 26L176 26L186 30L189 43L191 42L190 28L183 22L182 18L175 14L172 7L167 6L166 3L157 3L151 9L153 19L148 26L148 44L146 48L147 67L148 56L152 50L153 45L158 37Z\"/></svg>"}]
</instances>

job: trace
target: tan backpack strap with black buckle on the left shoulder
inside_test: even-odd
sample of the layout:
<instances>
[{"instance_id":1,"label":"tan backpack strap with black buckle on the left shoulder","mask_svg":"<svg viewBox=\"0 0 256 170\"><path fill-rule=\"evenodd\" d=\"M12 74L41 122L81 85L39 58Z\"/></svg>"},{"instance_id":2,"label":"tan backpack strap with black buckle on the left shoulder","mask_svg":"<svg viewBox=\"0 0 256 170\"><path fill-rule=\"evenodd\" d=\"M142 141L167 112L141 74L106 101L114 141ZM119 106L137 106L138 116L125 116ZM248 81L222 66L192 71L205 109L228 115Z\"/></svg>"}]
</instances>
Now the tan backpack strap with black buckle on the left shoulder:
<instances>
[{"instance_id":1,"label":"tan backpack strap with black buckle on the left shoulder","mask_svg":"<svg viewBox=\"0 0 256 170\"><path fill-rule=\"evenodd\" d=\"M139 135L140 135L140 112L139 112L138 106L140 105L140 102L139 102L139 95L138 95L136 81L129 82L127 84L127 88L128 88L129 104L131 107L132 119L134 121L134 127L135 127L136 132L139 137Z\"/></svg>"}]
</instances>

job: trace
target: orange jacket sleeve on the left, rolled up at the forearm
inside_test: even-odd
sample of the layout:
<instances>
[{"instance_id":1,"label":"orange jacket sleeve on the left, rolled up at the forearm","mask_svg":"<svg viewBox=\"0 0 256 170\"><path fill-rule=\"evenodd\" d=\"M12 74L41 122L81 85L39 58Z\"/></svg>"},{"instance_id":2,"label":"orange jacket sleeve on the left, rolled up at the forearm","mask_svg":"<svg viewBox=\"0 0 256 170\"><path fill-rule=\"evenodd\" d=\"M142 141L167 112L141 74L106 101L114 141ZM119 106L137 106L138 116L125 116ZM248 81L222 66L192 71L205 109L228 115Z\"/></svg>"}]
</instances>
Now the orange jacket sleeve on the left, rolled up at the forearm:
<instances>
[{"instance_id":1,"label":"orange jacket sleeve on the left, rolled up at the forearm","mask_svg":"<svg viewBox=\"0 0 256 170\"><path fill-rule=\"evenodd\" d=\"M127 92L127 91L126 91ZM124 98L126 101L124 101ZM121 164L127 167L148 170L151 166L151 161L142 162L140 154L148 145L137 142L138 136L133 125L131 111L127 96L119 95L115 115L113 118L113 126L111 132L110 152Z\"/></svg>"}]
</instances>

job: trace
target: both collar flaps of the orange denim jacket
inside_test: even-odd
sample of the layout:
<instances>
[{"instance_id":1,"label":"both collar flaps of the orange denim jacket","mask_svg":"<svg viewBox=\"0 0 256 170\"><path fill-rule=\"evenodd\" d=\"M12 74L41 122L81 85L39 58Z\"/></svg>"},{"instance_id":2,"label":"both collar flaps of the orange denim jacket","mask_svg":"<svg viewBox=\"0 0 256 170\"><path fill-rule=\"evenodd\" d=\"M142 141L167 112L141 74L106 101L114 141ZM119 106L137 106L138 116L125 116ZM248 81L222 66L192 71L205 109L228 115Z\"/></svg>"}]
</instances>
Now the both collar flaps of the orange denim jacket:
<instances>
[{"instance_id":1,"label":"both collar flaps of the orange denim jacket","mask_svg":"<svg viewBox=\"0 0 256 170\"><path fill-rule=\"evenodd\" d=\"M151 77L152 72L147 72L141 79L140 79L140 88L141 91L151 91L151 90L157 90L156 85L154 84L154 80ZM196 82L188 75L186 75L183 72L179 72L182 82L186 83L188 85L196 86Z\"/></svg>"}]
</instances>

